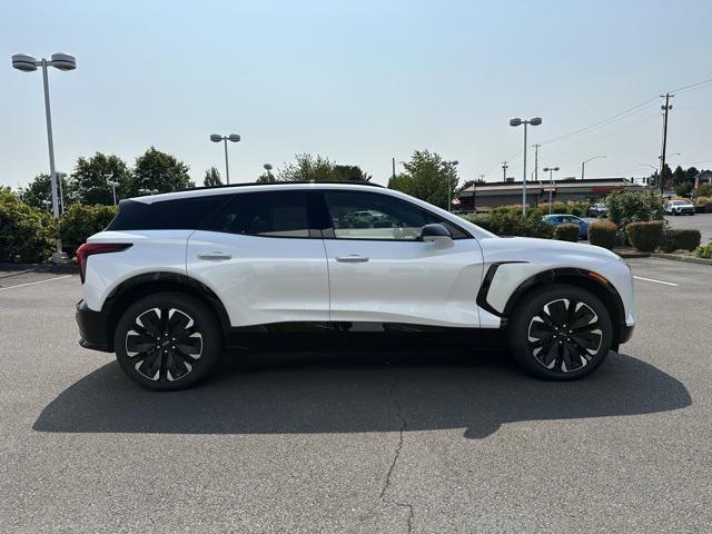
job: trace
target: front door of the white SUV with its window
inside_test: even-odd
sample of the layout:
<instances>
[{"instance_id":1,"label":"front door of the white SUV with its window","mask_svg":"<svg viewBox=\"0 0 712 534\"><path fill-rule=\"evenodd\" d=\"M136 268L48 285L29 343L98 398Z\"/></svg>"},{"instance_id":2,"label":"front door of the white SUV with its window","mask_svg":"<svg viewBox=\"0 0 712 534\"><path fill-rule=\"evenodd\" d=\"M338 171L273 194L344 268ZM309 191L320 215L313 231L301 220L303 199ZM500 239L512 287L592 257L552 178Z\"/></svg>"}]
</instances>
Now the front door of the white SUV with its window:
<instances>
[{"instance_id":1,"label":"front door of the white SUV with its window","mask_svg":"<svg viewBox=\"0 0 712 534\"><path fill-rule=\"evenodd\" d=\"M325 190L324 200L332 320L479 326L475 238L387 194ZM432 222L451 229L452 247L418 240Z\"/></svg>"}]
</instances>

